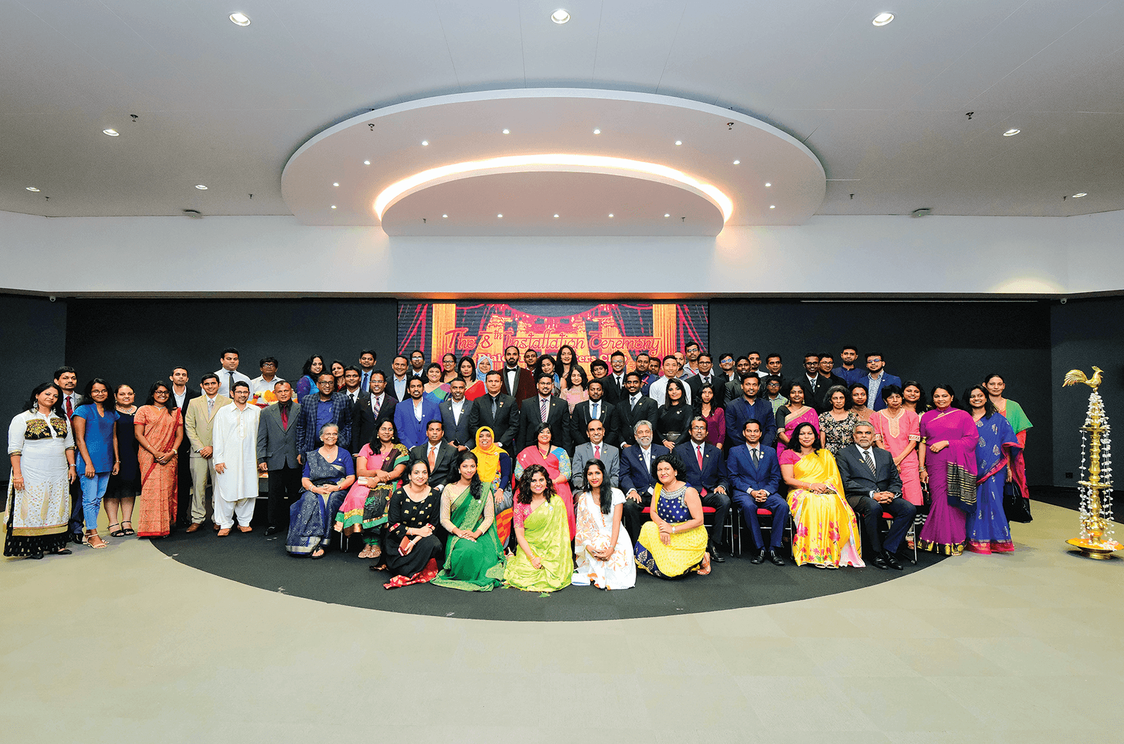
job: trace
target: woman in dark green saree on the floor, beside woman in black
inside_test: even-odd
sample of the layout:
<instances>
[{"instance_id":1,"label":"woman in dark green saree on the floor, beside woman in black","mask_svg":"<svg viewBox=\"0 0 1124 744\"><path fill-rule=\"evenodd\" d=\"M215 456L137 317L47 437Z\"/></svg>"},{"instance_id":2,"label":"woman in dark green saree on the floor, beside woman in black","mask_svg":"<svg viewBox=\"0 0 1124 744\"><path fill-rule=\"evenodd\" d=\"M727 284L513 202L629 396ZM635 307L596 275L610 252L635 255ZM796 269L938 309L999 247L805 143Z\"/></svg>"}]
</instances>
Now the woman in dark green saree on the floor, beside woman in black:
<instances>
[{"instance_id":1,"label":"woman in dark green saree on the floor, beside woman in black","mask_svg":"<svg viewBox=\"0 0 1124 744\"><path fill-rule=\"evenodd\" d=\"M462 452L461 480L441 492L441 526L448 533L438 587L491 591L504 583L504 547L496 535L491 482L481 483L477 455Z\"/></svg>"}]
</instances>

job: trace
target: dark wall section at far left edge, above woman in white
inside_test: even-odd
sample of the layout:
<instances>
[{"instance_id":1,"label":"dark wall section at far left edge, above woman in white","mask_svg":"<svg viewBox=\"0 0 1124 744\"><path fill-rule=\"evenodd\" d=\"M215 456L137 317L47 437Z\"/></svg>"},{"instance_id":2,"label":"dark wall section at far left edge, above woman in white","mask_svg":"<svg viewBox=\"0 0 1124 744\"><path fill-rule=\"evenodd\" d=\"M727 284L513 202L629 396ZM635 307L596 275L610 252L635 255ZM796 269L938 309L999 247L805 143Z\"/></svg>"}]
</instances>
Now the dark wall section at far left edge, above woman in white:
<instances>
[{"instance_id":1,"label":"dark wall section at far left edge, above woman in white","mask_svg":"<svg viewBox=\"0 0 1124 744\"><path fill-rule=\"evenodd\" d=\"M0 418L4 437L11 417L27 402L40 382L49 382L66 357L66 302L42 297L0 294L0 350L3 384L0 384ZM2 469L8 479L8 468Z\"/></svg>"}]
</instances>

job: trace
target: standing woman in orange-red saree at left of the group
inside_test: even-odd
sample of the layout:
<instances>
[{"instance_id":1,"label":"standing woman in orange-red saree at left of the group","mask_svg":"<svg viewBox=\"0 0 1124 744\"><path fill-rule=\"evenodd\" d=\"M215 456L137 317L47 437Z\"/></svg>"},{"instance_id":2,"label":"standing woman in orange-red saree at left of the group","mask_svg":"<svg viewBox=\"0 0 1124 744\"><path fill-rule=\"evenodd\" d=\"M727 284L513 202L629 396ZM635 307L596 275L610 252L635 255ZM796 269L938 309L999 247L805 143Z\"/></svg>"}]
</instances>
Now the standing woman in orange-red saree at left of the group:
<instances>
[{"instance_id":1,"label":"standing woman in orange-red saree at left of the group","mask_svg":"<svg viewBox=\"0 0 1124 744\"><path fill-rule=\"evenodd\" d=\"M148 400L133 417L140 448L140 503L137 537L166 537L175 521L176 451L183 441L183 420L164 382L148 391Z\"/></svg>"}]
</instances>

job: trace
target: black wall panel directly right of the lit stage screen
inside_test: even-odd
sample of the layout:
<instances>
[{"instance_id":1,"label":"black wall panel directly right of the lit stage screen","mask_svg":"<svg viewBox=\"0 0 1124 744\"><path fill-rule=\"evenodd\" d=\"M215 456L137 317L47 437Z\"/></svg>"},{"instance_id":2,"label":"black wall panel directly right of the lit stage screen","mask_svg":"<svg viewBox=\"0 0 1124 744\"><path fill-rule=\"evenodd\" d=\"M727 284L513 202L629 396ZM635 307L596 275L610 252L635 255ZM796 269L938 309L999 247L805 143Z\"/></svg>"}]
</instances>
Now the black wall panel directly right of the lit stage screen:
<instances>
[{"instance_id":1,"label":"black wall panel directly right of the lit stage screen","mask_svg":"<svg viewBox=\"0 0 1124 744\"><path fill-rule=\"evenodd\" d=\"M1027 436L1027 480L1053 482L1048 302L833 302L711 300L711 351L750 351L785 359L786 378L803 372L808 351L854 344L877 351L886 369L917 380L926 392L949 383L958 394L988 372L1003 374L1007 396L1034 424Z\"/></svg>"}]
</instances>

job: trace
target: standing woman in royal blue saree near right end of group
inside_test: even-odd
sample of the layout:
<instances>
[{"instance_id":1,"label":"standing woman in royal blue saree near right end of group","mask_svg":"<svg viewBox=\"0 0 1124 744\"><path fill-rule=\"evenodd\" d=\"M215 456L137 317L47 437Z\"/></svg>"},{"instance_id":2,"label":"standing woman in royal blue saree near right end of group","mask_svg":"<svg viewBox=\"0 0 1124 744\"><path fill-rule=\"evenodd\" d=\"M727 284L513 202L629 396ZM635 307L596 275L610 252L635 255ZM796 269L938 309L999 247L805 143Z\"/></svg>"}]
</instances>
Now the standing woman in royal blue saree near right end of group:
<instances>
[{"instance_id":1,"label":"standing woman in royal blue saree near right end of group","mask_svg":"<svg viewBox=\"0 0 1124 744\"><path fill-rule=\"evenodd\" d=\"M973 553L1010 553L1010 525L1003 511L1003 487L1012 462L1022 456L1015 429L996 410L982 385L972 385L964 401L980 434L976 445L976 503L969 505L964 547Z\"/></svg>"}]
</instances>

